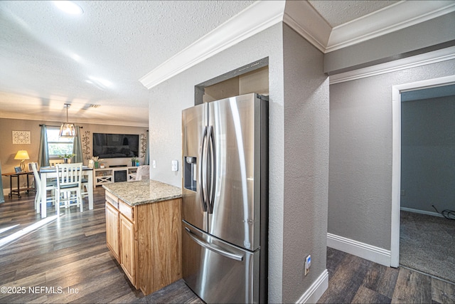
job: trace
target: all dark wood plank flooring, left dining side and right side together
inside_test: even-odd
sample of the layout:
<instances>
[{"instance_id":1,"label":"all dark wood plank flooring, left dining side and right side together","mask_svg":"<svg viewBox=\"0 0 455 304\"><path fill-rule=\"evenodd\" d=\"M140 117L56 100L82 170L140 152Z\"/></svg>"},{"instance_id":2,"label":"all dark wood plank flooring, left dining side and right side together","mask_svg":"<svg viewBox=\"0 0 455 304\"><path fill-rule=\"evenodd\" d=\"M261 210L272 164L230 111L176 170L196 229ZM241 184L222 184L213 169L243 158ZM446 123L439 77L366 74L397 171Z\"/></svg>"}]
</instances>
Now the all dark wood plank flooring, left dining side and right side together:
<instances>
[{"instance_id":1,"label":"all dark wood plank flooring, left dining side and right side together","mask_svg":"<svg viewBox=\"0 0 455 304\"><path fill-rule=\"evenodd\" d=\"M40 228L0 245L0 303L200 303L183 281L144 296L106 247L105 191L94 209L73 206ZM34 194L0 204L0 243L41 222ZM48 204L48 218L53 216ZM17 225L17 226L14 226ZM3 231L7 227L14 228ZM387 268L328 248L329 287L319 303L455 303L455 285Z\"/></svg>"}]
</instances>

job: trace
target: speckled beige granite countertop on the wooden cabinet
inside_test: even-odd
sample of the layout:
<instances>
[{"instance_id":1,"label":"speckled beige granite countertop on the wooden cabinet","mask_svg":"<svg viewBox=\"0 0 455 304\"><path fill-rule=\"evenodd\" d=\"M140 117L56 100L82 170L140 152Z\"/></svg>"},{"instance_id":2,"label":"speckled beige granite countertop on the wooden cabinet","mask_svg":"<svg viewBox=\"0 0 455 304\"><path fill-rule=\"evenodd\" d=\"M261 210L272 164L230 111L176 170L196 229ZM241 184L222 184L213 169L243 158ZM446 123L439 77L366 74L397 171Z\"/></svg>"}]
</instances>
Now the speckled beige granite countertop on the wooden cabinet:
<instances>
[{"instance_id":1,"label":"speckled beige granite countertop on the wooden cabinet","mask_svg":"<svg viewBox=\"0 0 455 304\"><path fill-rule=\"evenodd\" d=\"M103 188L129 206L150 204L182 197L182 189L154 180L103 184Z\"/></svg>"}]
</instances>

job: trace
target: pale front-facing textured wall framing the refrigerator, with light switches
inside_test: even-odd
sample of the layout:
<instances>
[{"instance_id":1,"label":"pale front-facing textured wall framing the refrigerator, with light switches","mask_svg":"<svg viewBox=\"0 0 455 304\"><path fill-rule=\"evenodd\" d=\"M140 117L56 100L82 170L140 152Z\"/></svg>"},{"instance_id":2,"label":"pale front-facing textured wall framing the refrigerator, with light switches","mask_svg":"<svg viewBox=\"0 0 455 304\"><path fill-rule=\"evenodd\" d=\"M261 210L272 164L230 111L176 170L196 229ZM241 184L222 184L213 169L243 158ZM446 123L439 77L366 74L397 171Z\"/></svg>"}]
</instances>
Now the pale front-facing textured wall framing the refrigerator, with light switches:
<instances>
[{"instance_id":1,"label":"pale front-facing textured wall framing the refrigerator, with light switches","mask_svg":"<svg viewBox=\"0 0 455 304\"><path fill-rule=\"evenodd\" d=\"M282 25L272 26L222 53L208 58L150 90L151 178L181 187L181 171L171 172L171 160L181 163L181 110L194 105L194 86L269 57L269 301L282 302L283 276L283 64ZM303 293L304 290L301 291Z\"/></svg>"}]
</instances>

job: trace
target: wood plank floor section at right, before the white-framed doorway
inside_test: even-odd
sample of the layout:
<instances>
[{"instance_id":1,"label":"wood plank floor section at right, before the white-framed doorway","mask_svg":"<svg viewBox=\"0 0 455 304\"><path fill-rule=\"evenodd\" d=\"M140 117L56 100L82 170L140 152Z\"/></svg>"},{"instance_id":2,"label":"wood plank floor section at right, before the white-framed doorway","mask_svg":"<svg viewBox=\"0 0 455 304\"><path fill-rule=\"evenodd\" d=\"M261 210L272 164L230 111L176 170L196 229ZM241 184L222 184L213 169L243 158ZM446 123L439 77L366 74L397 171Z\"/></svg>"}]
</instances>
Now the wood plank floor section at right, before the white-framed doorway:
<instances>
[{"instance_id":1,"label":"wood plank floor section at right, before the white-framed doorway","mask_svg":"<svg viewBox=\"0 0 455 304\"><path fill-rule=\"evenodd\" d=\"M455 285L327 248L328 290L318 303L455 303Z\"/></svg>"}]
</instances>

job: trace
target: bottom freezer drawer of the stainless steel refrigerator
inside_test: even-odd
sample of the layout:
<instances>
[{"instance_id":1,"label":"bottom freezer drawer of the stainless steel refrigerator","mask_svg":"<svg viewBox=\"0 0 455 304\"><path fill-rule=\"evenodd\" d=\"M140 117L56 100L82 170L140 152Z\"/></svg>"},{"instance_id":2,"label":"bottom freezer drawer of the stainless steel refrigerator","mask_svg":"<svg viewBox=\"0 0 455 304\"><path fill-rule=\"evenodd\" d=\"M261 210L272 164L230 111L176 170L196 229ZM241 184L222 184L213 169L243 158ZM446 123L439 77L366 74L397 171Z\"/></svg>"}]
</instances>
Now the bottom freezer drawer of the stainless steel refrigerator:
<instances>
[{"instance_id":1,"label":"bottom freezer drawer of the stainless steel refrigerator","mask_svg":"<svg viewBox=\"0 0 455 304\"><path fill-rule=\"evenodd\" d=\"M259 250L232 246L185 221L182 227L183 279L201 299L259 303Z\"/></svg>"}]
</instances>

